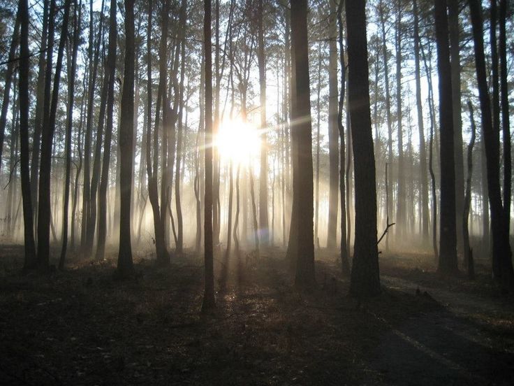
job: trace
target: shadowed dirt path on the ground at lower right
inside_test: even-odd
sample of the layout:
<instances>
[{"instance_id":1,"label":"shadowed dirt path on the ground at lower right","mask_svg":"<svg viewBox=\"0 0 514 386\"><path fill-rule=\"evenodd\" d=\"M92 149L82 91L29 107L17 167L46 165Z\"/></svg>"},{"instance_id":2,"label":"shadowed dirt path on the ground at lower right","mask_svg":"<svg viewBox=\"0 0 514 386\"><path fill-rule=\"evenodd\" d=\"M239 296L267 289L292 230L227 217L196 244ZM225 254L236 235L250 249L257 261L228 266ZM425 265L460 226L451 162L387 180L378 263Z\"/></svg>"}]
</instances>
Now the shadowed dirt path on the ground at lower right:
<instances>
[{"instance_id":1,"label":"shadowed dirt path on the ground at lower right","mask_svg":"<svg viewBox=\"0 0 514 386\"><path fill-rule=\"evenodd\" d=\"M383 276L388 288L416 292L410 280ZM424 295L427 291L429 296ZM422 288L441 304L392 327L371 366L387 385L513 385L514 309L469 293ZM387 320L383 320L388 324Z\"/></svg>"}]
</instances>

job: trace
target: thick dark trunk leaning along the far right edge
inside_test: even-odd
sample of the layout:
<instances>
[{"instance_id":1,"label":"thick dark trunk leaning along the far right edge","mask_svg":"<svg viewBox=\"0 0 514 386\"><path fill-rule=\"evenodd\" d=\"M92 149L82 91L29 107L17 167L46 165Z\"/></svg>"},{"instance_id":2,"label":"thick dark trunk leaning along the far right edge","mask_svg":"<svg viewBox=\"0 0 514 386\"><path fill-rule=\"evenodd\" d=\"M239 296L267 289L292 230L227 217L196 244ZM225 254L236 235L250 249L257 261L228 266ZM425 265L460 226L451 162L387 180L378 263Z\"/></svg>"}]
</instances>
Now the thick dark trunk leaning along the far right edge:
<instances>
[{"instance_id":1,"label":"thick dark trunk leaning along the far right edge","mask_svg":"<svg viewBox=\"0 0 514 386\"><path fill-rule=\"evenodd\" d=\"M501 202L499 178L499 132L494 130L492 123L491 99L487 88L485 55L483 42L483 19L480 1L469 0L471 27L476 63L476 80L478 98L482 113L482 131L485 145L485 161L487 163L487 191L491 208L492 229L492 271L494 278L505 289L514 287L512 252L509 243L508 227Z\"/></svg>"}]
</instances>

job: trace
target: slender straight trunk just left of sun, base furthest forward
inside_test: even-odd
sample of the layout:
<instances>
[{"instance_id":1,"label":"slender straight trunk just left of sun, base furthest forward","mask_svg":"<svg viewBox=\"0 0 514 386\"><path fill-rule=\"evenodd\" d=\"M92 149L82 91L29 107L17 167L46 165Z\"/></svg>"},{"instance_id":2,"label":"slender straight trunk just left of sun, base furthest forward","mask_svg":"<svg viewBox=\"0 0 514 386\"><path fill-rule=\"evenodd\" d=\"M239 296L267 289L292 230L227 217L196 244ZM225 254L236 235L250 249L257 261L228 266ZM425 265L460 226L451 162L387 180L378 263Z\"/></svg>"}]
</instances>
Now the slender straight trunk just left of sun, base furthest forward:
<instances>
[{"instance_id":1,"label":"slender straight trunk just left of sun, base furthest forward","mask_svg":"<svg viewBox=\"0 0 514 386\"><path fill-rule=\"evenodd\" d=\"M212 41L211 41L211 1L203 3L203 39L205 52L205 141L212 142ZM214 256L212 245L212 146L205 147L205 224L204 224L204 264L205 287L202 310L216 306L214 299Z\"/></svg>"}]
</instances>

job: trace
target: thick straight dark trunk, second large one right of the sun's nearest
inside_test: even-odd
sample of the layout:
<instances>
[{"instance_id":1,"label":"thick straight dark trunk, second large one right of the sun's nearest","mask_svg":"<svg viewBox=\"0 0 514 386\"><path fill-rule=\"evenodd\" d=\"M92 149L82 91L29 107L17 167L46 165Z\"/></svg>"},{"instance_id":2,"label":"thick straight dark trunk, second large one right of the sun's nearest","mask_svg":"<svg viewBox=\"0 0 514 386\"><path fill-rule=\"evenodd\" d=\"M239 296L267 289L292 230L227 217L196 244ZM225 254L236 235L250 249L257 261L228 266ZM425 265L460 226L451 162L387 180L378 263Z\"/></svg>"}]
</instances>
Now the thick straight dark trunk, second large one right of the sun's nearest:
<instances>
[{"instance_id":1,"label":"thick straight dark trunk, second large one right of the sun's nearest","mask_svg":"<svg viewBox=\"0 0 514 386\"><path fill-rule=\"evenodd\" d=\"M439 130L441 132L441 225L439 265L441 273L455 273L457 267L457 225L455 223L455 156L453 150L453 99L448 45L446 0L436 0L437 73L439 76Z\"/></svg>"}]
</instances>

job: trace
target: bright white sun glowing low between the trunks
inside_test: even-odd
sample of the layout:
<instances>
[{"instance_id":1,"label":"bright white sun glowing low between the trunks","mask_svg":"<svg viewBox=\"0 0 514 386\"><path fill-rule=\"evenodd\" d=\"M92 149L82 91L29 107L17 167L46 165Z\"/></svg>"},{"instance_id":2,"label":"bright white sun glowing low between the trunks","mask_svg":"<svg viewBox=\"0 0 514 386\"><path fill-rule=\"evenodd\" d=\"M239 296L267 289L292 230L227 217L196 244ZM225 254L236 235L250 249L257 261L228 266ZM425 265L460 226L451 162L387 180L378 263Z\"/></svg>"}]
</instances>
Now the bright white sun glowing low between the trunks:
<instances>
[{"instance_id":1,"label":"bright white sun glowing low between the trunks","mask_svg":"<svg viewBox=\"0 0 514 386\"><path fill-rule=\"evenodd\" d=\"M258 130L242 120L224 120L215 143L221 158L235 164L246 164L260 152Z\"/></svg>"}]
</instances>

